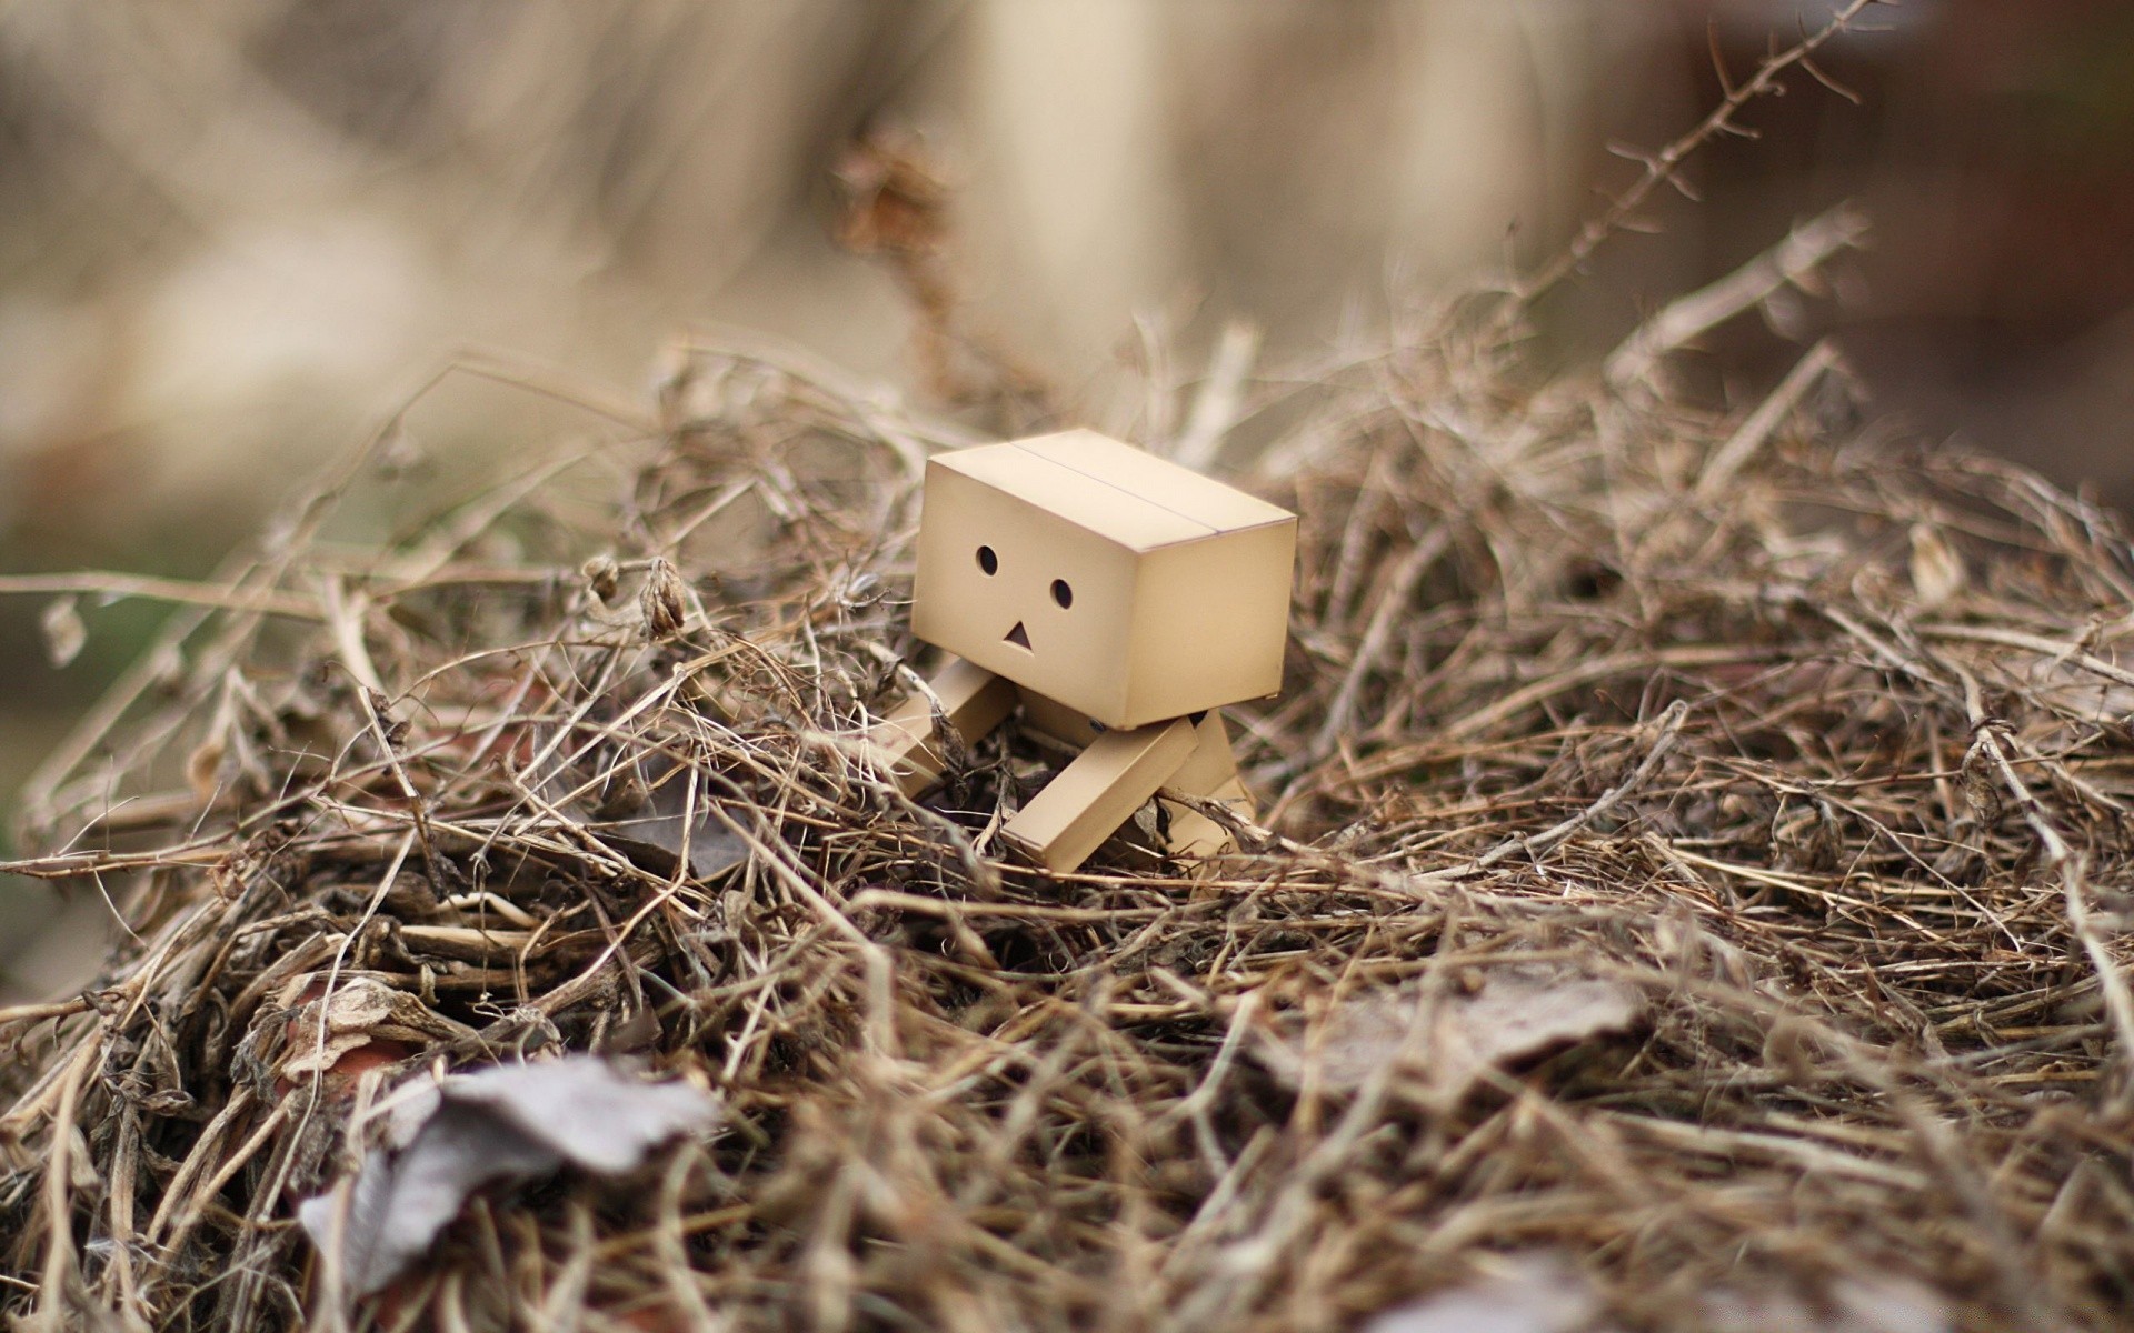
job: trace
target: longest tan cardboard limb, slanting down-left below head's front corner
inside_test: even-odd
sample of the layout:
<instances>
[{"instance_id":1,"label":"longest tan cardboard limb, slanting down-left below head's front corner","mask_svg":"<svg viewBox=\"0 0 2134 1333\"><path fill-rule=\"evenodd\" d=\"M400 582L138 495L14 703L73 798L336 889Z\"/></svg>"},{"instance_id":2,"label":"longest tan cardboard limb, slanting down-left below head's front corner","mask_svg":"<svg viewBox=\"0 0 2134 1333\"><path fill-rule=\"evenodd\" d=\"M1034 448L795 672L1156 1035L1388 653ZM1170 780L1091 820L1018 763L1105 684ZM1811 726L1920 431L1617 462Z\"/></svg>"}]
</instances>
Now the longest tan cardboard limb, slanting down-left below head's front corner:
<instances>
[{"instance_id":1,"label":"longest tan cardboard limb, slanting down-left below head's front corner","mask_svg":"<svg viewBox=\"0 0 2134 1333\"><path fill-rule=\"evenodd\" d=\"M1105 732L1007 821L1001 838L1048 870L1073 870L1193 755L1178 719Z\"/></svg>"}]
</instances>

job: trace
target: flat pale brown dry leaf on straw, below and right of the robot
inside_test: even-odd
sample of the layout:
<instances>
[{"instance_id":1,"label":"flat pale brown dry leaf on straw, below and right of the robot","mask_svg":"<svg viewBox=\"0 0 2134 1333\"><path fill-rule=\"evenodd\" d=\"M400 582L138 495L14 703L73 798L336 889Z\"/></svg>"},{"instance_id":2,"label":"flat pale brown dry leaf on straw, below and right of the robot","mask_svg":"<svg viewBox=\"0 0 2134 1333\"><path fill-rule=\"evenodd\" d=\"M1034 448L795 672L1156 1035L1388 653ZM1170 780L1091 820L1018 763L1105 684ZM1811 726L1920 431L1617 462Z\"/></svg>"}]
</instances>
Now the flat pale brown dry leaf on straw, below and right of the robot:
<instances>
[{"instance_id":1,"label":"flat pale brown dry leaf on straw, below and right of the robot","mask_svg":"<svg viewBox=\"0 0 2134 1333\"><path fill-rule=\"evenodd\" d=\"M1472 996L1381 990L1349 996L1317 1032L1265 1043L1265 1062L1302 1081L1355 1092L1385 1064L1415 1069L1436 1101L1460 1101L1490 1066L1551 1047L1622 1032L1639 1019L1639 994L1620 983L1551 968L1498 968Z\"/></svg>"}]
</instances>

